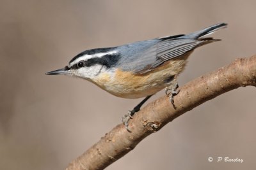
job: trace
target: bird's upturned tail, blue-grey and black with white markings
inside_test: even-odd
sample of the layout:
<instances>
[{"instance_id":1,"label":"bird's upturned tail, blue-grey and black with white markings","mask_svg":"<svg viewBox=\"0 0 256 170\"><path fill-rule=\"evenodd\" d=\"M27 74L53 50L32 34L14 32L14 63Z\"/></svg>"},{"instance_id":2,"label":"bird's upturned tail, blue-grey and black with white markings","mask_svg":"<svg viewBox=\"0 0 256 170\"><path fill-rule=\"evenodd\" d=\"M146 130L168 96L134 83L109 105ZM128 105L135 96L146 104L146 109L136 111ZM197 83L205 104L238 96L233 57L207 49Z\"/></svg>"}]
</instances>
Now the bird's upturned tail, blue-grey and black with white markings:
<instances>
[{"instance_id":1,"label":"bird's upturned tail, blue-grey and black with white markings","mask_svg":"<svg viewBox=\"0 0 256 170\"><path fill-rule=\"evenodd\" d=\"M221 24L215 24L210 27L207 27L205 29L202 29L200 31L192 32L191 34L187 34L183 36L183 38L189 38L189 39L199 39L202 38L203 36L207 36L209 34L212 34L215 31L218 31L221 28L227 27L228 24L226 23L221 23Z\"/></svg>"}]
</instances>

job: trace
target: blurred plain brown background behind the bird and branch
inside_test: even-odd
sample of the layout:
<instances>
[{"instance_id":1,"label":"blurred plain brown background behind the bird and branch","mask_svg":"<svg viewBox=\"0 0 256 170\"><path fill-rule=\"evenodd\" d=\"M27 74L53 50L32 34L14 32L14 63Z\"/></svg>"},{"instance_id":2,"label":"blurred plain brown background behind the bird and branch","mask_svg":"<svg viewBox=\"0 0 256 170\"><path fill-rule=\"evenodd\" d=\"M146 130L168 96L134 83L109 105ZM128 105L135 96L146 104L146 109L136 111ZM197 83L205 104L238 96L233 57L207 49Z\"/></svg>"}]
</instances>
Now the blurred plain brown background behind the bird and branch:
<instances>
[{"instance_id":1,"label":"blurred plain brown background behind the bird and branch","mask_svg":"<svg viewBox=\"0 0 256 170\"><path fill-rule=\"evenodd\" d=\"M218 22L223 41L198 48L179 83L256 53L256 1L0 1L0 169L64 169L141 99L47 76L79 52ZM164 92L159 92L151 101ZM107 169L255 169L253 87L198 106ZM208 162L213 157L213 162ZM244 159L216 162L217 157Z\"/></svg>"}]
</instances>

